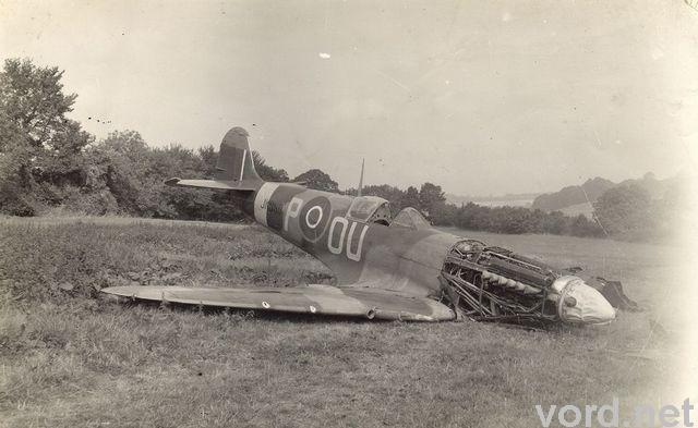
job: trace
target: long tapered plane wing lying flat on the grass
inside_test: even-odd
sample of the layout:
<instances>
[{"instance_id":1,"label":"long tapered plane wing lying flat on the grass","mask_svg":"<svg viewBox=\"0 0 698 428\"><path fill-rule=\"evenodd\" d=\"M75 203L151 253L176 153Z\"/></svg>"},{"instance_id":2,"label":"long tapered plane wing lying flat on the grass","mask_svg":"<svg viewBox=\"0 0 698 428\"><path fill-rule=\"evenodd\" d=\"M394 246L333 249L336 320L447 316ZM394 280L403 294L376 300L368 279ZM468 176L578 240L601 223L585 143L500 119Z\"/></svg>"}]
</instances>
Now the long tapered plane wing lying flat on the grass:
<instances>
[{"instance_id":1,"label":"long tapered plane wing lying flat on the grass","mask_svg":"<svg viewBox=\"0 0 698 428\"><path fill-rule=\"evenodd\" d=\"M306 285L285 289L215 289L129 285L110 286L101 291L136 301L240 309L406 321L442 321L455 318L450 308L434 299L368 288Z\"/></svg>"}]
</instances>

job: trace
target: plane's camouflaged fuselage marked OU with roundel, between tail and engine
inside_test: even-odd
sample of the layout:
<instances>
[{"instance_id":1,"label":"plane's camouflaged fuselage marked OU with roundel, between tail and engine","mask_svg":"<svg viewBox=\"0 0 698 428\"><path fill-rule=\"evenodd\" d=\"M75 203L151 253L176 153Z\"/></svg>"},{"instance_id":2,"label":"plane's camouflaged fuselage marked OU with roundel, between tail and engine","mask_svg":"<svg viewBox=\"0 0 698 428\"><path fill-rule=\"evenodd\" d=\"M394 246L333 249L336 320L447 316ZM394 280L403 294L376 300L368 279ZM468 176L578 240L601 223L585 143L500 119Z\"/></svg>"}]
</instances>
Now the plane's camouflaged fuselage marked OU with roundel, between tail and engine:
<instances>
[{"instance_id":1,"label":"plane's camouflaged fuselage marked OU with roundel, between tail and engine","mask_svg":"<svg viewBox=\"0 0 698 428\"><path fill-rule=\"evenodd\" d=\"M337 285L436 294L444 258L462 239L432 228L352 220L347 212L353 199L292 183L264 183L246 196L243 209L332 269Z\"/></svg>"}]
</instances>

